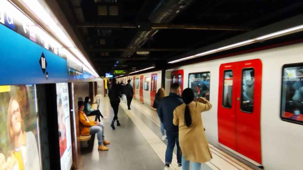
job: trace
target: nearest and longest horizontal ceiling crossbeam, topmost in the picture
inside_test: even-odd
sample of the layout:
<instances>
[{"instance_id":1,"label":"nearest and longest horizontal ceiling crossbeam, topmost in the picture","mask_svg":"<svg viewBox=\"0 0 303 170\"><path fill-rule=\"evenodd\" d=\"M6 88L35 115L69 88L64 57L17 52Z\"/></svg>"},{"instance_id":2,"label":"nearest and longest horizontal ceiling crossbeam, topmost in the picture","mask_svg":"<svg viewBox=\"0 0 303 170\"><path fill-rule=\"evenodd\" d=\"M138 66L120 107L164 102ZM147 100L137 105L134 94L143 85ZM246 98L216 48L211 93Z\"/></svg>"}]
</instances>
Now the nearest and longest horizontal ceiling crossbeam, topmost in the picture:
<instances>
[{"instance_id":1,"label":"nearest and longest horizontal ceiling crossbeam, topmost in the picture","mask_svg":"<svg viewBox=\"0 0 303 170\"><path fill-rule=\"evenodd\" d=\"M230 30L230 31L249 31L252 28L241 27L238 25L187 25L187 24L159 24L159 23L103 23L103 22L83 22L78 27L85 28L144 28L147 29L191 29L191 30Z\"/></svg>"}]
</instances>

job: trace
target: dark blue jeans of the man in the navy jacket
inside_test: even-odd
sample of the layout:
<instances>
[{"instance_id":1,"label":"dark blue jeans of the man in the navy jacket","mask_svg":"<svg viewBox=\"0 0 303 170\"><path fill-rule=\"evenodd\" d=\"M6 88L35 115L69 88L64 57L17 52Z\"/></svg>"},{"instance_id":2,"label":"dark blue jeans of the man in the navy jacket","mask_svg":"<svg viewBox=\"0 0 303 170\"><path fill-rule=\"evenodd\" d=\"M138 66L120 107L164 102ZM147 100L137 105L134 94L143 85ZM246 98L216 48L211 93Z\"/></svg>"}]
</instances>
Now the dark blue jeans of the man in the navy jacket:
<instances>
[{"instance_id":1,"label":"dark blue jeans of the man in the navy jacket","mask_svg":"<svg viewBox=\"0 0 303 170\"><path fill-rule=\"evenodd\" d=\"M177 145L177 162L181 164L181 149L179 145L179 133L178 132L168 132L167 136L167 148L165 152L165 164L171 164L172 153L174 152L175 144Z\"/></svg>"}]
</instances>

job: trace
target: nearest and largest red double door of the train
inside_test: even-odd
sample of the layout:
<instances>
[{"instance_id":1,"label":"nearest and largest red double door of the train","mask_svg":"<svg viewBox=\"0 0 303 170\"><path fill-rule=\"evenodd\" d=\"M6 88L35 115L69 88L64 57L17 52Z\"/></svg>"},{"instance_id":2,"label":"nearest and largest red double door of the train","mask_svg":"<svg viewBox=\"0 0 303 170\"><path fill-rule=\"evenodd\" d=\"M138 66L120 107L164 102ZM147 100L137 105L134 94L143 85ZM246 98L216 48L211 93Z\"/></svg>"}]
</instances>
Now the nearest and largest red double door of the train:
<instances>
[{"instance_id":1,"label":"nearest and largest red double door of the train","mask_svg":"<svg viewBox=\"0 0 303 170\"><path fill-rule=\"evenodd\" d=\"M221 64L219 78L219 142L262 164L261 60Z\"/></svg>"}]
</instances>

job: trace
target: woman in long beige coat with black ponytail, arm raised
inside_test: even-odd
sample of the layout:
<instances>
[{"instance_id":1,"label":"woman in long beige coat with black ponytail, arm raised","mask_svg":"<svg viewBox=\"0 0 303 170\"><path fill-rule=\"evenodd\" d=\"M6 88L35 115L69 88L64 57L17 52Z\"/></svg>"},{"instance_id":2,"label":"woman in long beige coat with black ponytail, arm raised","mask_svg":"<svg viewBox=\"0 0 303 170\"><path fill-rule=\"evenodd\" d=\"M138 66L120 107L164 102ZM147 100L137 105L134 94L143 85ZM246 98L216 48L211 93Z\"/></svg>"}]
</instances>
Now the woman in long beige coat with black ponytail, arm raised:
<instances>
[{"instance_id":1,"label":"woman in long beige coat with black ponytail, arm raised","mask_svg":"<svg viewBox=\"0 0 303 170\"><path fill-rule=\"evenodd\" d=\"M194 102L194 93L187 88L182 93L183 104L174 110L173 123L179 126L179 143L182 151L182 169L200 170L201 163L211 160L211 152L205 137L201 112L211 109L211 104L205 98Z\"/></svg>"}]
</instances>

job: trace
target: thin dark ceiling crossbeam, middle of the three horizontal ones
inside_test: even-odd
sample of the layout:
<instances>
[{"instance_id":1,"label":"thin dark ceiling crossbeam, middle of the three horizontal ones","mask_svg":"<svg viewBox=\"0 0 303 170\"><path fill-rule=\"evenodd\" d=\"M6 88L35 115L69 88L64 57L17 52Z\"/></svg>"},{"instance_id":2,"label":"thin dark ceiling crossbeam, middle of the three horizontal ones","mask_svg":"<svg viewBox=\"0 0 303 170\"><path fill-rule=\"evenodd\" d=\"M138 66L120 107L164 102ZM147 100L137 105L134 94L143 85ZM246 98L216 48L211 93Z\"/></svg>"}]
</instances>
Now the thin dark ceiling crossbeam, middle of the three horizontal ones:
<instances>
[{"instance_id":1,"label":"thin dark ceiling crossbeam, middle of the three horizontal ones","mask_svg":"<svg viewBox=\"0 0 303 170\"><path fill-rule=\"evenodd\" d=\"M190 51L193 50L191 48L95 48L90 49L91 52L106 52L106 51Z\"/></svg>"}]
</instances>

